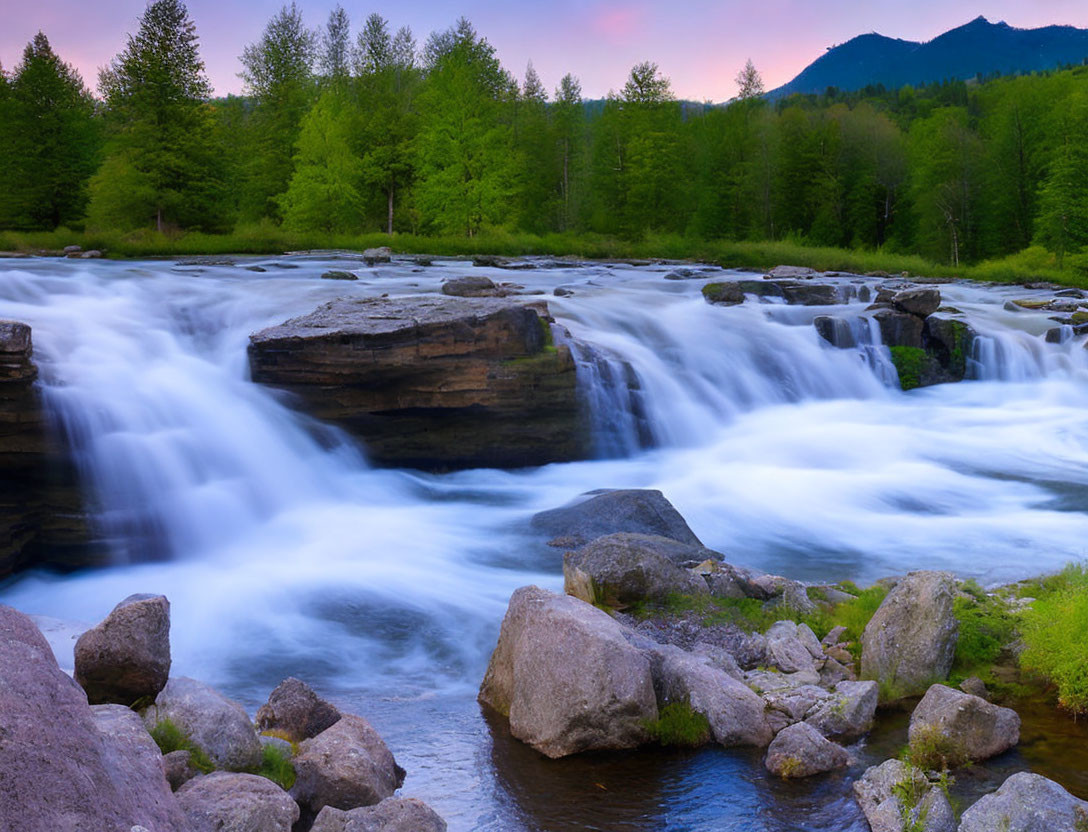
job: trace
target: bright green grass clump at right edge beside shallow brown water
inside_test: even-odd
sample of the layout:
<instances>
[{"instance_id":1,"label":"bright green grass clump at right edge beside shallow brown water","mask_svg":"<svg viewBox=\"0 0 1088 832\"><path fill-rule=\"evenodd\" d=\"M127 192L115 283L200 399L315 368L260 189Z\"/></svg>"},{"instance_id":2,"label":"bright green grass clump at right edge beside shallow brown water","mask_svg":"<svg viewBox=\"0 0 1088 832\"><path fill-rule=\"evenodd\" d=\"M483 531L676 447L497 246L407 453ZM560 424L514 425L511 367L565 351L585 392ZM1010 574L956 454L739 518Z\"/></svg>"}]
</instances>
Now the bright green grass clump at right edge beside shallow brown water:
<instances>
[{"instance_id":1,"label":"bright green grass clump at right edge beside shallow brown water","mask_svg":"<svg viewBox=\"0 0 1088 832\"><path fill-rule=\"evenodd\" d=\"M1036 601L1021 614L1021 667L1053 684L1063 708L1088 713L1088 564L1066 567L1031 589Z\"/></svg>"}]
</instances>

